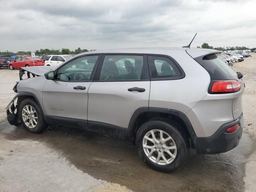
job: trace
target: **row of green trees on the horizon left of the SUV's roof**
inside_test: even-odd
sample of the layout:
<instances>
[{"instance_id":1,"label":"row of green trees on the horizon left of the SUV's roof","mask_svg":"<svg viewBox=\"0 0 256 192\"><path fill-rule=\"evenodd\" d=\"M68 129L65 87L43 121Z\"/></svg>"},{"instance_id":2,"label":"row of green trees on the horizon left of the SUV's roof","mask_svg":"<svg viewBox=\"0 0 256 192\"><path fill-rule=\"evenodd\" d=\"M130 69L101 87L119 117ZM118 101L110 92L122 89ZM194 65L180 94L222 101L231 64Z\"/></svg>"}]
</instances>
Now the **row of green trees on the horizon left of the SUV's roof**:
<instances>
[{"instance_id":1,"label":"row of green trees on the horizon left of the SUV's roof","mask_svg":"<svg viewBox=\"0 0 256 192\"><path fill-rule=\"evenodd\" d=\"M62 48L61 51L59 49L40 49L40 50L36 50L35 53L36 54L79 54L79 53L88 52L88 51L89 50L87 49L81 49L80 47L78 47L74 51L70 51L67 48ZM90 51L96 51L96 50L94 49ZM14 53L7 50L4 52L0 52L0 54L31 55L31 51L18 51Z\"/></svg>"}]
</instances>

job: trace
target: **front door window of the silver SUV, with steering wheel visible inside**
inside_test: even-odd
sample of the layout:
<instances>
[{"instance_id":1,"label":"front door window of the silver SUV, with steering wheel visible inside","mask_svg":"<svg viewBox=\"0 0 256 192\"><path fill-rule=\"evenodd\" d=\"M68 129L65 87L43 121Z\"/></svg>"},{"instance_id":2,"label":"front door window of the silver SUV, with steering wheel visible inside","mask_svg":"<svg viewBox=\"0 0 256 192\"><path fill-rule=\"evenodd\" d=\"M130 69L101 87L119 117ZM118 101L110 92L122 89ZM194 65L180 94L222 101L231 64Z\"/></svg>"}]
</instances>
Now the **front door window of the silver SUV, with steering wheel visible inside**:
<instances>
[{"instance_id":1,"label":"front door window of the silver SUV, with steering wheel visible inside","mask_svg":"<svg viewBox=\"0 0 256 192\"><path fill-rule=\"evenodd\" d=\"M89 81L97 59L98 55L76 58L59 68L56 79L63 81Z\"/></svg>"}]
</instances>

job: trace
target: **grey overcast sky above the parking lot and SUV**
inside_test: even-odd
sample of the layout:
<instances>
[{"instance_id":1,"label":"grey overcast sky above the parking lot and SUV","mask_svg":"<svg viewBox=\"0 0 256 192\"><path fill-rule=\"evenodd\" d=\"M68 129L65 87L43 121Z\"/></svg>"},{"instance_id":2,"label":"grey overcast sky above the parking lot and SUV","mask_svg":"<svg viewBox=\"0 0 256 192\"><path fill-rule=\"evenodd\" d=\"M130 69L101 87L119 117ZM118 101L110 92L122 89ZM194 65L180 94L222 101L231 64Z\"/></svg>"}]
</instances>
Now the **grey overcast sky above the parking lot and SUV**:
<instances>
[{"instance_id":1,"label":"grey overcast sky above the parking lot and SUV","mask_svg":"<svg viewBox=\"0 0 256 192\"><path fill-rule=\"evenodd\" d=\"M0 0L0 51L256 47L255 0Z\"/></svg>"}]
</instances>

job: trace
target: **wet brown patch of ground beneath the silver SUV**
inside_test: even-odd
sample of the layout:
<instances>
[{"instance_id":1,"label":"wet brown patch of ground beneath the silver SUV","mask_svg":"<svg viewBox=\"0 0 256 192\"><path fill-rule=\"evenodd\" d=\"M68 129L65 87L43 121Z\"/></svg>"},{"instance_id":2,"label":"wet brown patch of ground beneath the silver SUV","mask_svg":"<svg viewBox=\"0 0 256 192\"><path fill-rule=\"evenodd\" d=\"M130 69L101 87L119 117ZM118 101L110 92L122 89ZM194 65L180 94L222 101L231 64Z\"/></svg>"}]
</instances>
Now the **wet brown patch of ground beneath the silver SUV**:
<instances>
[{"instance_id":1,"label":"wet brown patch of ground beneath the silver SUV","mask_svg":"<svg viewBox=\"0 0 256 192\"><path fill-rule=\"evenodd\" d=\"M138 157L136 148L118 138L58 127L42 134L31 134L5 122L0 124L0 132L6 133L9 140L43 142L94 178L145 192L242 191L244 165L253 148L252 138L243 133L240 144L233 150L224 154L192 156L180 170L164 174L148 168Z\"/></svg>"}]
</instances>

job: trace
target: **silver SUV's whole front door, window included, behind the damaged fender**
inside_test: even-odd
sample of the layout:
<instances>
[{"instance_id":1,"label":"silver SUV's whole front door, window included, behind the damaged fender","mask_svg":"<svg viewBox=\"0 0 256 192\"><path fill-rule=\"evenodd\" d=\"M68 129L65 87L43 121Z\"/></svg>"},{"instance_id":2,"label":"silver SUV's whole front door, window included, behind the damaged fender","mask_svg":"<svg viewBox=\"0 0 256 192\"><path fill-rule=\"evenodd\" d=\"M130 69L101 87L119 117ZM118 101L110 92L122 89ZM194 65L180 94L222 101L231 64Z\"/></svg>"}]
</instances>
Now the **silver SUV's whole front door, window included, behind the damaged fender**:
<instances>
[{"instance_id":1,"label":"silver SUV's whole front door, window included, behind the damaged fender","mask_svg":"<svg viewBox=\"0 0 256 192\"><path fill-rule=\"evenodd\" d=\"M80 56L56 69L55 79L43 88L47 116L87 120L88 88L98 60L99 55Z\"/></svg>"}]
</instances>

